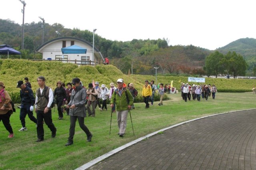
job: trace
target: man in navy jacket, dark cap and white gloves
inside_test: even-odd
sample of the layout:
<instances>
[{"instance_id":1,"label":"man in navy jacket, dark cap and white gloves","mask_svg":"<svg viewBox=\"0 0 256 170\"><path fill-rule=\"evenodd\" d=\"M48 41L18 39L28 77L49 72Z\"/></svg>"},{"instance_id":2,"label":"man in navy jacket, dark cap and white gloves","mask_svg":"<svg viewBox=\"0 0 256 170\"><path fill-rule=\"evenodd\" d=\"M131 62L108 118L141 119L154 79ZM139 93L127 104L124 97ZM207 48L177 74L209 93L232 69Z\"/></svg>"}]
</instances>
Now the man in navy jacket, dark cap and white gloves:
<instances>
[{"instance_id":1,"label":"man in navy jacket, dark cap and white gloves","mask_svg":"<svg viewBox=\"0 0 256 170\"><path fill-rule=\"evenodd\" d=\"M33 116L33 109L35 98L33 95L32 89L26 86L23 81L18 81L17 88L20 88L20 99L21 99L21 108L20 108L20 121L22 128L19 131L27 130L25 118L28 114L28 117L34 123L37 123L36 118Z\"/></svg>"}]
</instances>

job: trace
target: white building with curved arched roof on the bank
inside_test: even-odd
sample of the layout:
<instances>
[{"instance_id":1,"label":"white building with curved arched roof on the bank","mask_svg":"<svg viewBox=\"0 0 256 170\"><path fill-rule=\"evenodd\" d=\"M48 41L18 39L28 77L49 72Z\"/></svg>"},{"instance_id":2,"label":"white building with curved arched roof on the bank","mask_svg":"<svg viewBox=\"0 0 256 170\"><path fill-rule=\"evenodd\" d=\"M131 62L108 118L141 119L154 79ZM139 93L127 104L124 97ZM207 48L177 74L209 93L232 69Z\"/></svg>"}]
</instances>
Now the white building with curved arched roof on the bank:
<instances>
[{"instance_id":1,"label":"white building with curved arched roof on the bank","mask_svg":"<svg viewBox=\"0 0 256 170\"><path fill-rule=\"evenodd\" d=\"M61 49L77 45L87 49L84 54L62 54ZM48 60L62 60L63 62L76 63L76 64L97 64L103 62L103 57L100 51L94 47L94 56L92 55L92 44L80 38L74 37L59 37L52 39L42 44L38 49L38 53L43 55L43 59Z\"/></svg>"}]
</instances>

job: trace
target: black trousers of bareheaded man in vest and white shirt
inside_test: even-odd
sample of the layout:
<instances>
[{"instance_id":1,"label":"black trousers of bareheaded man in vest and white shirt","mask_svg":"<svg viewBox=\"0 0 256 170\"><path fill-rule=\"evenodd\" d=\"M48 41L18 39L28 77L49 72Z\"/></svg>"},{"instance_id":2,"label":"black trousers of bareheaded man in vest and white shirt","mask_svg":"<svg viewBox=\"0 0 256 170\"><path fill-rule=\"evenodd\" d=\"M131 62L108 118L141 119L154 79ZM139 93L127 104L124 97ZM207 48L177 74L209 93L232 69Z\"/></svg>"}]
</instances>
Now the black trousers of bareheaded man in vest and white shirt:
<instances>
[{"instance_id":1,"label":"black trousers of bareheaded man in vest and white shirt","mask_svg":"<svg viewBox=\"0 0 256 170\"><path fill-rule=\"evenodd\" d=\"M45 124L50 128L50 130L55 133L56 128L54 124L52 123L52 110L49 110L47 113L44 113L44 111L37 111L36 112L37 117L37 137L38 138L44 138L44 126L43 121Z\"/></svg>"}]
</instances>

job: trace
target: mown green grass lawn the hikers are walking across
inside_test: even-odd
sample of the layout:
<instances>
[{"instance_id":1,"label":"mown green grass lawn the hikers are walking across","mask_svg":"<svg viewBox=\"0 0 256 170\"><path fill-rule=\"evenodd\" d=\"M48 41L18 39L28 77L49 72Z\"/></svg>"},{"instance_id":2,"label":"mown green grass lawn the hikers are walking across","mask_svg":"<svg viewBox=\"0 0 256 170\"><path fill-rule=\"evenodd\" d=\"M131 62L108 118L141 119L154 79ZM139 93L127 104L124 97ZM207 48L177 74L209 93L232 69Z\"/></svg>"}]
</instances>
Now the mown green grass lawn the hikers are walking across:
<instances>
[{"instance_id":1,"label":"mown green grass lawn the hikers are walking across","mask_svg":"<svg viewBox=\"0 0 256 170\"><path fill-rule=\"evenodd\" d=\"M64 146L69 134L69 117L58 120L57 108L52 115L53 123L57 128L57 135L51 138L49 128L44 125L44 141L35 142L37 139L36 127L26 117L27 131L19 132L21 123L19 109L11 116L10 123L14 130L14 138L7 138L8 131L0 123L0 169L75 169L79 166L126 144L136 138L174 125L186 120L242 109L256 108L256 95L252 93L217 93L216 99L208 101L188 101L185 103L180 93L168 95L170 100L164 101L162 106L157 102L149 109L144 109L144 103L135 103L136 109L131 111L134 133L130 115L126 134L120 138L116 123L116 115L112 117L110 130L110 107L108 111L100 112L96 109L96 117L87 117L86 126L93 134L92 142L86 142L86 134L76 124L74 144ZM35 114L35 113L34 113Z\"/></svg>"}]
</instances>

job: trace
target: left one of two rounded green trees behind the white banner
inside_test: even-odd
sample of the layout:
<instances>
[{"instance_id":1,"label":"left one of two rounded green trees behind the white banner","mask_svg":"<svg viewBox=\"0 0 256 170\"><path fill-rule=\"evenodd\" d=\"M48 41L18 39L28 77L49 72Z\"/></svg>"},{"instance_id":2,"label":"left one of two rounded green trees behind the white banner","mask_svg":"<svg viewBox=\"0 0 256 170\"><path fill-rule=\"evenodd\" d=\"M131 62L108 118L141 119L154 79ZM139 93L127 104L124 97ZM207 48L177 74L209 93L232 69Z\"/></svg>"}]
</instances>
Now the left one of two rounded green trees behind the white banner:
<instances>
[{"instance_id":1,"label":"left one of two rounded green trees behind the white banner","mask_svg":"<svg viewBox=\"0 0 256 170\"><path fill-rule=\"evenodd\" d=\"M207 75L214 75L216 78L218 74L223 73L224 65L223 59L224 55L219 51L215 51L206 57L205 60L205 71Z\"/></svg>"}]
</instances>

